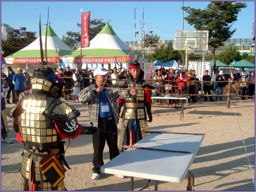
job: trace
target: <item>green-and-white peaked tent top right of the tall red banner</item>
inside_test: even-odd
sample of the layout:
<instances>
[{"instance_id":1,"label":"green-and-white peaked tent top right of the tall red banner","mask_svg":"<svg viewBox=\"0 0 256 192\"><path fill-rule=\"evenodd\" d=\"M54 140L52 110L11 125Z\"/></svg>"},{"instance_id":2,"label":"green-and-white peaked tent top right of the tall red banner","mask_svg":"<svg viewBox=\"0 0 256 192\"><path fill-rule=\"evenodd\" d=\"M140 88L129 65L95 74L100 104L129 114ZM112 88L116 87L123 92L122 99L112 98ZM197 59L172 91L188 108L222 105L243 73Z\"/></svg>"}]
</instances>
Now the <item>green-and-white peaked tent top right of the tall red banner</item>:
<instances>
[{"instance_id":1,"label":"green-and-white peaked tent top right of the tall red banner","mask_svg":"<svg viewBox=\"0 0 256 192\"><path fill-rule=\"evenodd\" d=\"M132 51L133 52L133 51ZM63 61L80 64L80 48L63 56ZM129 47L117 36L109 23L91 41L90 46L82 48L82 63L128 62ZM135 53L130 55L135 60ZM69 59L68 59L69 58ZM70 61L69 61L70 60ZM142 61L140 57L139 62Z\"/></svg>"}]
</instances>

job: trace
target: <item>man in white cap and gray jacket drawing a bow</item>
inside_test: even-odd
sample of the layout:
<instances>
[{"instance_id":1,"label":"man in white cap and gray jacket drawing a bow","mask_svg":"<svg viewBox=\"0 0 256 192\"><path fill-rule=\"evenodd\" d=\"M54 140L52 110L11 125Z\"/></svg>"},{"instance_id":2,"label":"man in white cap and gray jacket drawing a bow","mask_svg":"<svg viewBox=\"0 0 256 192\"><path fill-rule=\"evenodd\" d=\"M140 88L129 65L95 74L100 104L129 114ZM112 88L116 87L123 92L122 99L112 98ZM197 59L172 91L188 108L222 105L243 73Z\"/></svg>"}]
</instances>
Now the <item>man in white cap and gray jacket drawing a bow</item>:
<instances>
[{"instance_id":1,"label":"man in white cap and gray jacket drawing a bow","mask_svg":"<svg viewBox=\"0 0 256 192\"><path fill-rule=\"evenodd\" d=\"M117 98L125 99L137 95L137 90L123 90L106 85L108 72L103 67L94 70L95 83L84 88L79 93L81 104L89 107L90 124L99 131L93 134L93 176L92 179L100 179L100 168L103 163L103 149L107 142L109 146L110 160L119 155L117 147L117 123L119 119ZM109 133L111 132L111 133ZM120 178L124 176L118 175Z\"/></svg>"}]
</instances>

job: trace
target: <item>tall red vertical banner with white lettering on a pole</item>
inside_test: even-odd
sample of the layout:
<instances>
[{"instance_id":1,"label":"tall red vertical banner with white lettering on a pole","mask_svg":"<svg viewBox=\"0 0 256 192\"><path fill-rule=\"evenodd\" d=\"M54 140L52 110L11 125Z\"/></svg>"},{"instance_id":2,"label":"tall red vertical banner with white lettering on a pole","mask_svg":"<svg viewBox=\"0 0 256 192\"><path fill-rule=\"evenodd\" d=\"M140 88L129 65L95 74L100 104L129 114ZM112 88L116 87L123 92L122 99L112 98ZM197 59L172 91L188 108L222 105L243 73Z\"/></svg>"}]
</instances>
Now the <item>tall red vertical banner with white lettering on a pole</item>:
<instances>
[{"instance_id":1,"label":"tall red vertical banner with white lettering on a pole","mask_svg":"<svg viewBox=\"0 0 256 192\"><path fill-rule=\"evenodd\" d=\"M90 24L90 11L87 13L82 13L82 34L81 34L81 47L89 47L89 24Z\"/></svg>"}]
</instances>

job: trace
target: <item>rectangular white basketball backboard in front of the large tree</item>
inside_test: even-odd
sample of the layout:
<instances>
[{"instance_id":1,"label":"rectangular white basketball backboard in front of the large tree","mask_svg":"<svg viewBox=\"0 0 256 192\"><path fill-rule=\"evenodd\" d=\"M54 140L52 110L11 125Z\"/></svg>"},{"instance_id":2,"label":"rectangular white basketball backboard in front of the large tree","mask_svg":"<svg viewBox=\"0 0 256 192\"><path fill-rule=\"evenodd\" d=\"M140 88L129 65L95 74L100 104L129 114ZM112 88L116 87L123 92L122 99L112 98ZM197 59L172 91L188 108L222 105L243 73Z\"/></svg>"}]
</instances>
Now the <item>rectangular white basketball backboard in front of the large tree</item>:
<instances>
[{"instance_id":1,"label":"rectangular white basketball backboard in front of the large tree","mask_svg":"<svg viewBox=\"0 0 256 192\"><path fill-rule=\"evenodd\" d=\"M175 31L174 50L208 51L209 31Z\"/></svg>"}]
</instances>

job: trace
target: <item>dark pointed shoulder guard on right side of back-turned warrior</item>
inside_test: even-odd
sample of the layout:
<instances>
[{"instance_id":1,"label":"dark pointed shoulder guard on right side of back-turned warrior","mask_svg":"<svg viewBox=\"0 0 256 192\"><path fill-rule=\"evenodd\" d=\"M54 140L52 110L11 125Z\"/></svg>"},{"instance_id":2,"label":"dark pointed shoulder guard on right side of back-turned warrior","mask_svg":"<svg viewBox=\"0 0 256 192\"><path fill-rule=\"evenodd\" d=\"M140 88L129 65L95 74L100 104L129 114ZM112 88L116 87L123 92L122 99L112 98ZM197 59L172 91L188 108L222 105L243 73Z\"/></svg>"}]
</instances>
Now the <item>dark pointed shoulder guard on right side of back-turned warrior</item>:
<instances>
[{"instance_id":1,"label":"dark pointed shoulder guard on right side of back-turned warrior","mask_svg":"<svg viewBox=\"0 0 256 192\"><path fill-rule=\"evenodd\" d=\"M52 104L43 113L44 116L57 122L67 122L80 115L80 112L69 104L59 99L54 99Z\"/></svg>"}]
</instances>

